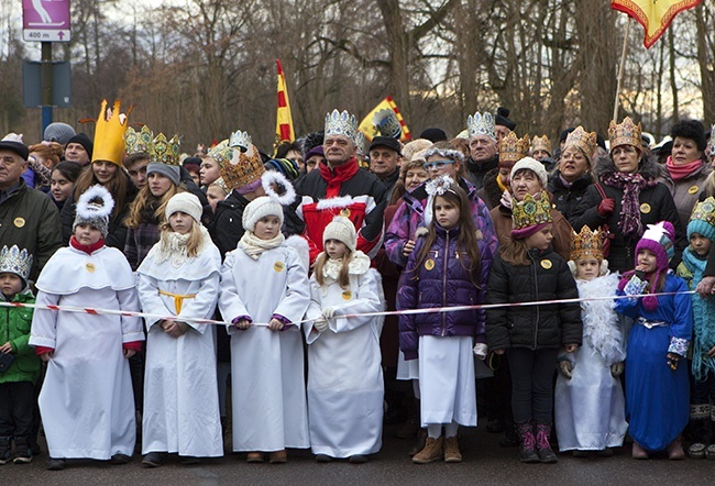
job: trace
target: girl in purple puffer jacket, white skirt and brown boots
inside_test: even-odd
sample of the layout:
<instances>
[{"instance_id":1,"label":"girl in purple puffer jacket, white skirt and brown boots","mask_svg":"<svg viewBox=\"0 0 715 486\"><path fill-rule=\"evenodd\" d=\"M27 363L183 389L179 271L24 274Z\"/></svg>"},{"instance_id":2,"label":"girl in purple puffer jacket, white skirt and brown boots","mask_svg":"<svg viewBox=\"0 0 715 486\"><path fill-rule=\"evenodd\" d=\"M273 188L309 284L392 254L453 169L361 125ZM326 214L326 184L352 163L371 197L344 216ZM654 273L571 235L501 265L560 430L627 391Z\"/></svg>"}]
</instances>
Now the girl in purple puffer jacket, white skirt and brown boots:
<instances>
[{"instance_id":1,"label":"girl in purple puffer jacket, white skirt and brown boots","mask_svg":"<svg viewBox=\"0 0 715 486\"><path fill-rule=\"evenodd\" d=\"M492 253L474 229L466 194L448 176L430 181L428 190L435 195L435 218L409 256L397 306L428 309L482 303ZM425 449L413 457L416 464L442 457L462 461L457 432L460 424L476 426L472 346L483 358L484 328L481 309L399 317L405 358L419 355L421 424L428 431Z\"/></svg>"}]
</instances>

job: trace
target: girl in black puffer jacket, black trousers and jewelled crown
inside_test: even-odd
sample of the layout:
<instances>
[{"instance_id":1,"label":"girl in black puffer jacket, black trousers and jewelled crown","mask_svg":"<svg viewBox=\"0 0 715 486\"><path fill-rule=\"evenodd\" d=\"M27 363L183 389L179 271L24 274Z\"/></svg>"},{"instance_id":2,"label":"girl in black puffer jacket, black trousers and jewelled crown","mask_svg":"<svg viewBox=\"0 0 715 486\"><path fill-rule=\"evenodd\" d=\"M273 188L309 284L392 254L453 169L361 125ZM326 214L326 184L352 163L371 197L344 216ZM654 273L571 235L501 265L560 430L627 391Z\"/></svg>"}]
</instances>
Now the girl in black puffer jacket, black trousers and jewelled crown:
<instances>
[{"instance_id":1,"label":"girl in black puffer jacket, black trousers and jewelled crown","mask_svg":"<svg viewBox=\"0 0 715 486\"><path fill-rule=\"evenodd\" d=\"M527 195L513 207L509 241L499 247L490 275L487 302L510 303L579 297L566 262L551 248L549 195ZM499 307L486 311L490 349L505 354L512 371L512 408L519 461L556 463L549 444L553 374L560 347L581 345L581 306Z\"/></svg>"}]
</instances>

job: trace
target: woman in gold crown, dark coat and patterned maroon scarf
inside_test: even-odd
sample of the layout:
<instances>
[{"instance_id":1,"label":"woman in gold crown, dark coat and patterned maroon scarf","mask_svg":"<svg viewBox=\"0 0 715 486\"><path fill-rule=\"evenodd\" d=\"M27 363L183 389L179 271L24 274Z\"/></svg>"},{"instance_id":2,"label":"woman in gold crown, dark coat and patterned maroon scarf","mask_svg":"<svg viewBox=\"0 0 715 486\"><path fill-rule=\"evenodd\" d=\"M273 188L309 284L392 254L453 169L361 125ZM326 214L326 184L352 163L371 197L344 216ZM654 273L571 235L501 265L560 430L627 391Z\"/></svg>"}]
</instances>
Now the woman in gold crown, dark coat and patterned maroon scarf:
<instances>
[{"instance_id":1,"label":"woman in gold crown, dark coat and patterned maroon scarf","mask_svg":"<svg viewBox=\"0 0 715 486\"><path fill-rule=\"evenodd\" d=\"M670 221L675 228L675 256L671 267L680 263L686 245L673 197L658 181L659 167L641 157L640 133L640 123L634 124L628 117L620 124L610 122L610 156L602 169L601 184L588 187L571 219L579 229L608 227L608 266L613 272L632 269L636 244L647 224Z\"/></svg>"}]
</instances>

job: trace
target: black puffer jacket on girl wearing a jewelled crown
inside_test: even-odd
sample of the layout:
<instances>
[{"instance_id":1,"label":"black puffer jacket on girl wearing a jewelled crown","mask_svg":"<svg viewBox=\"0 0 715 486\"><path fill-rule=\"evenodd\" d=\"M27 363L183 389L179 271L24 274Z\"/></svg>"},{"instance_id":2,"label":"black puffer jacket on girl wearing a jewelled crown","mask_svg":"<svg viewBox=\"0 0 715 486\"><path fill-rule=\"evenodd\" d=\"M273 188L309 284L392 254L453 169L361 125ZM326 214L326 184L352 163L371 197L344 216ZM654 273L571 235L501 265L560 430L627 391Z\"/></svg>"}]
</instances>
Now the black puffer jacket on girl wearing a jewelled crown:
<instances>
[{"instance_id":1,"label":"black puffer jacket on girl wearing a jewelled crown","mask_svg":"<svg viewBox=\"0 0 715 486\"><path fill-rule=\"evenodd\" d=\"M501 257L494 259L486 290L487 303L579 297L566 262L550 246L544 252L531 250L528 257L531 261L528 266L510 265ZM486 310L486 341L491 350L541 350L581 344L582 334L581 306L576 302Z\"/></svg>"}]
</instances>

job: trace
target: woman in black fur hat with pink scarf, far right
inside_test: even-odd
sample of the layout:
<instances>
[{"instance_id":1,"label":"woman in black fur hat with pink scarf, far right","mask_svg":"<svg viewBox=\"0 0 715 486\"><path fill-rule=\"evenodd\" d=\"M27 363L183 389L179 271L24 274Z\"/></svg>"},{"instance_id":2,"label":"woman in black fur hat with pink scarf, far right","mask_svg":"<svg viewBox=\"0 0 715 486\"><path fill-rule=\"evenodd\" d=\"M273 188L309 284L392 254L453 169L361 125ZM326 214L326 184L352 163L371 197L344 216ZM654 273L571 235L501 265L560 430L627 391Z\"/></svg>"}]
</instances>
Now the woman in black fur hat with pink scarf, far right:
<instances>
[{"instance_id":1,"label":"woman in black fur hat with pink scarf, far right","mask_svg":"<svg viewBox=\"0 0 715 486\"><path fill-rule=\"evenodd\" d=\"M673 196L680 222L688 227L697 197L713 172L705 158L705 129L697 120L680 120L670 131L673 148L666 161L666 170L660 181L668 186Z\"/></svg>"}]
</instances>

